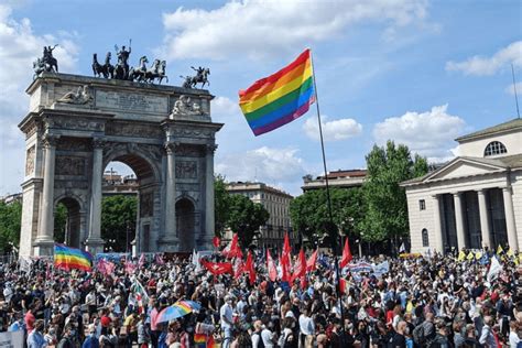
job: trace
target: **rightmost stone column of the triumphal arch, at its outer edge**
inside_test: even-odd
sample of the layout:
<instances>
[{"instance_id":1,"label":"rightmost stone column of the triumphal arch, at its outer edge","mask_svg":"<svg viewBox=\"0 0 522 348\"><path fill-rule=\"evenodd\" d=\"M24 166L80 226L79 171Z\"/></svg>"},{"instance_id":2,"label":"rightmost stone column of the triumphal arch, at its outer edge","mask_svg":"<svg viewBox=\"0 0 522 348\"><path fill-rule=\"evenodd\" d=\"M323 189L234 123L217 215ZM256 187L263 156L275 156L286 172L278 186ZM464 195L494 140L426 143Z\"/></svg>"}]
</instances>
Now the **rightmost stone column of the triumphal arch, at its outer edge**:
<instances>
[{"instance_id":1,"label":"rightmost stone column of the triumphal arch, at its outer edge","mask_svg":"<svg viewBox=\"0 0 522 348\"><path fill-rule=\"evenodd\" d=\"M214 152L217 145L207 144L205 157L205 236L203 237L204 248L211 250L211 240L215 229L214 214Z\"/></svg>"}]
</instances>

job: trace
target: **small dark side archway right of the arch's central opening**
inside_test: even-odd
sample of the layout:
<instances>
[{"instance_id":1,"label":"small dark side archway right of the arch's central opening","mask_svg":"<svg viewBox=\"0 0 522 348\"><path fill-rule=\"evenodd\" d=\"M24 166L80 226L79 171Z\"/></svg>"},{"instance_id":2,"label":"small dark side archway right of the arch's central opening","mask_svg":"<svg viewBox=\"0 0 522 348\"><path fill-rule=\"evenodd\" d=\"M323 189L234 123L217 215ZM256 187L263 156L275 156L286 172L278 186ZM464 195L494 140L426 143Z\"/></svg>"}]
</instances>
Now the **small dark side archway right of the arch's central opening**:
<instances>
[{"instance_id":1,"label":"small dark side archway right of the arch's central opening","mask_svg":"<svg viewBox=\"0 0 522 348\"><path fill-rule=\"evenodd\" d=\"M188 195L183 195L176 200L176 235L180 251L196 248L196 202Z\"/></svg>"}]
</instances>

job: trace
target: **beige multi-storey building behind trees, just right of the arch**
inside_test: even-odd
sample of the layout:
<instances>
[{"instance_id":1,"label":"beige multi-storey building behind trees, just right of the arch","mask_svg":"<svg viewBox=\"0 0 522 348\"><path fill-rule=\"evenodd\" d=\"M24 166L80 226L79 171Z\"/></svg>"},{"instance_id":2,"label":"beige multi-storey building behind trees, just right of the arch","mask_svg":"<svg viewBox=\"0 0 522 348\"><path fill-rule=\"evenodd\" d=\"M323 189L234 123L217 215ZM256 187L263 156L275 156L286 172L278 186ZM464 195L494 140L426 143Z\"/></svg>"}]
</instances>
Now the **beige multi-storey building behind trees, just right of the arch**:
<instances>
[{"instance_id":1,"label":"beige multi-storey building behind trees, just right of the arch","mask_svg":"<svg viewBox=\"0 0 522 348\"><path fill-rule=\"evenodd\" d=\"M253 203L261 204L269 211L270 218L267 225L259 228L258 247L281 248L285 231L295 240L290 220L290 203L293 196L263 183L228 183L226 188L229 194L243 195Z\"/></svg>"}]
</instances>

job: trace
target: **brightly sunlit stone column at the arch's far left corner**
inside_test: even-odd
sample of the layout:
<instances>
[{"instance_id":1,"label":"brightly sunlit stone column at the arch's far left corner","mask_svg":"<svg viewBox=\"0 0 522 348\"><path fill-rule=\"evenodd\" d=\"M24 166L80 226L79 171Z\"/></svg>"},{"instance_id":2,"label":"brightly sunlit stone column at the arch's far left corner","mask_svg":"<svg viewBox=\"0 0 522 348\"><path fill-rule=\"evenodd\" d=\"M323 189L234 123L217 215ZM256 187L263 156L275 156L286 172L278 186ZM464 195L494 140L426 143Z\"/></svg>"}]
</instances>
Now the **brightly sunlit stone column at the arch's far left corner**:
<instances>
[{"instance_id":1,"label":"brightly sunlit stone column at the arch's far left corner","mask_svg":"<svg viewBox=\"0 0 522 348\"><path fill-rule=\"evenodd\" d=\"M40 224L37 236L34 240L34 254L48 255L53 253L54 244L54 167L56 157L55 137L45 137L43 148L45 149L44 159L44 180L42 192L42 208L40 210Z\"/></svg>"}]
</instances>

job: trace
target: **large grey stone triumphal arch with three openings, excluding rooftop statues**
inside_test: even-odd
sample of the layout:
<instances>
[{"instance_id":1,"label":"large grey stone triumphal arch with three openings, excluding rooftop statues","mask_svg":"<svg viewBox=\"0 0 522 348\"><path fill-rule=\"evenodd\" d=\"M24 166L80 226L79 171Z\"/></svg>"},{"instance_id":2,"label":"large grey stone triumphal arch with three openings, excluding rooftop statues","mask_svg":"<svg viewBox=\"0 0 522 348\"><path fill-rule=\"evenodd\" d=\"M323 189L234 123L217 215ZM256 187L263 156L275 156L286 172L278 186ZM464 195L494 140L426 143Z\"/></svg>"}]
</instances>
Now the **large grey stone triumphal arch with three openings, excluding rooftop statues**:
<instances>
[{"instance_id":1,"label":"large grey stone triumphal arch with three openings, excluding rooftop statues","mask_svg":"<svg viewBox=\"0 0 522 348\"><path fill-rule=\"evenodd\" d=\"M54 211L67 207L67 244L94 253L102 175L120 161L139 181L139 252L211 248L215 134L203 89L43 72L26 89L21 255L53 252Z\"/></svg>"}]
</instances>

